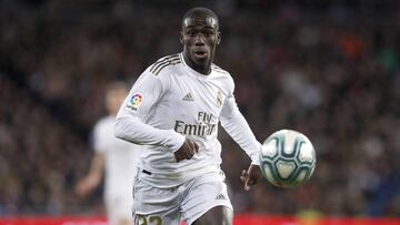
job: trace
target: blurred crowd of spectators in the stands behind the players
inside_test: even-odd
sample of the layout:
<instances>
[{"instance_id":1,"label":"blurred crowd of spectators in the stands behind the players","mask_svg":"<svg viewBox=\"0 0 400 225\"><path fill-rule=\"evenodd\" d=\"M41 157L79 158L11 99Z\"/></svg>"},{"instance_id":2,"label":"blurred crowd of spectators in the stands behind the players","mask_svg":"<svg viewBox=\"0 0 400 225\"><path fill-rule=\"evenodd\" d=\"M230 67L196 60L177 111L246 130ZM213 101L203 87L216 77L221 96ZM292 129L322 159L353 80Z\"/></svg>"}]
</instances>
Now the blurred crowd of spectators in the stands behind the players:
<instances>
[{"instance_id":1,"label":"blurred crowd of spectators in the stands behind the players","mask_svg":"<svg viewBox=\"0 0 400 225\"><path fill-rule=\"evenodd\" d=\"M104 88L181 50L181 16L200 4L188 2L0 0L0 215L101 212L101 191L82 200L73 185ZM307 184L244 192L249 160L222 133L236 212L400 216L399 2L202 6L220 16L216 63L257 137L298 130L318 153Z\"/></svg>"}]
</instances>

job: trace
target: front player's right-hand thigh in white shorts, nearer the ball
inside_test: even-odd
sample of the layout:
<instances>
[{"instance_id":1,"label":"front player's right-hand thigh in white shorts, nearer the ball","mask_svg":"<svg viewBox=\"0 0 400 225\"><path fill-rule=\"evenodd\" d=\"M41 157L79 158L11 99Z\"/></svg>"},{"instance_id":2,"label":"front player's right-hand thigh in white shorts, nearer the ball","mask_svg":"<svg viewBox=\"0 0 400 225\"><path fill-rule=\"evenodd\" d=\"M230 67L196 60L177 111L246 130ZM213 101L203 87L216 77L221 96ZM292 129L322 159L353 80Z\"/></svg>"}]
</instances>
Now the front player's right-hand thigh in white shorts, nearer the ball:
<instances>
[{"instance_id":1,"label":"front player's right-hand thigh in white shorts, nearer the ball","mask_svg":"<svg viewBox=\"0 0 400 225\"><path fill-rule=\"evenodd\" d=\"M197 177L188 185L183 196L181 209L183 218L188 224L193 224L209 211L211 212L210 214L219 215L219 218L210 217L212 222L216 222L214 224L232 219L232 213L229 213L232 212L232 204L228 196L227 184L222 178L210 181L210 176L207 175ZM210 214L207 214L207 218L209 218L208 215Z\"/></svg>"}]
</instances>

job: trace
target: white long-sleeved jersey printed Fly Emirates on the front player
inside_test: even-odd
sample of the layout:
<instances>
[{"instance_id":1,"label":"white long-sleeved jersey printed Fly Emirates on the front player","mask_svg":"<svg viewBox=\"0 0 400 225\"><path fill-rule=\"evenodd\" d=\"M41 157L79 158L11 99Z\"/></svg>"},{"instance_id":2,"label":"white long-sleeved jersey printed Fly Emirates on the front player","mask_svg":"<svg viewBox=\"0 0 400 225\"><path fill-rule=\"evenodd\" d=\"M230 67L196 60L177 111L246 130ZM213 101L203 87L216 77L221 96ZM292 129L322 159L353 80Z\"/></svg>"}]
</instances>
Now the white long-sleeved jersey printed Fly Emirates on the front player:
<instances>
[{"instance_id":1,"label":"white long-sleeved jersey printed Fly Emirates on the front player","mask_svg":"<svg viewBox=\"0 0 400 225\"><path fill-rule=\"evenodd\" d=\"M150 65L133 84L116 122L116 135L146 145L140 177L158 187L179 185L219 170L218 124L259 164L261 144L239 112L231 75L212 64L209 75L186 64L182 53ZM190 160L177 162L173 152L184 139L199 145Z\"/></svg>"}]
</instances>

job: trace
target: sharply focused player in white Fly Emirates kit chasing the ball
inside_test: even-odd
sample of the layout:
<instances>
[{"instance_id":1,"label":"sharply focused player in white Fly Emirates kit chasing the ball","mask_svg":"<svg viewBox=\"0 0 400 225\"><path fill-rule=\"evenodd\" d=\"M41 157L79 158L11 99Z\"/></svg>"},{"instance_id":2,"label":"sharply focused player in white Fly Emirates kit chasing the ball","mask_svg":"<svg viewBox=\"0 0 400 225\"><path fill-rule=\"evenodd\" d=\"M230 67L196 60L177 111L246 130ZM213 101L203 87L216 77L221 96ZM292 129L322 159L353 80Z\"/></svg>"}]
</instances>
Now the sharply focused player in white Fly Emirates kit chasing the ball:
<instances>
[{"instance_id":1,"label":"sharply focused player in white Fly Emirates kit chasing the ball","mask_svg":"<svg viewBox=\"0 0 400 225\"><path fill-rule=\"evenodd\" d=\"M241 174L244 188L261 177L261 144L238 110L231 75L212 63L220 41L216 13L189 10L183 51L151 64L120 108L116 136L146 146L133 187L136 225L178 225L181 216L187 224L232 224L219 122L252 161Z\"/></svg>"}]
</instances>

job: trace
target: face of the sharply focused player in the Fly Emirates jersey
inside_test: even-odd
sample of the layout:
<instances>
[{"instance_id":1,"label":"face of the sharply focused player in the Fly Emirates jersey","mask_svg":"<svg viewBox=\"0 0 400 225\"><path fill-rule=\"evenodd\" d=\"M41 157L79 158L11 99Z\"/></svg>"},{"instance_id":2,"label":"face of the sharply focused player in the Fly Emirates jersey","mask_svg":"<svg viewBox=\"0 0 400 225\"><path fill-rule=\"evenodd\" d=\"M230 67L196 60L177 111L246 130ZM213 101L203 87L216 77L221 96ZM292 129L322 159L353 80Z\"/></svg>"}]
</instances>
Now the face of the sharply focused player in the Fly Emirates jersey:
<instances>
[{"instance_id":1,"label":"face of the sharply focused player in the Fly Emirates jersey","mask_svg":"<svg viewBox=\"0 0 400 225\"><path fill-rule=\"evenodd\" d=\"M210 67L219 42L220 32L214 18L194 16L182 22L183 54L194 67Z\"/></svg>"}]
</instances>

